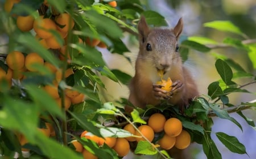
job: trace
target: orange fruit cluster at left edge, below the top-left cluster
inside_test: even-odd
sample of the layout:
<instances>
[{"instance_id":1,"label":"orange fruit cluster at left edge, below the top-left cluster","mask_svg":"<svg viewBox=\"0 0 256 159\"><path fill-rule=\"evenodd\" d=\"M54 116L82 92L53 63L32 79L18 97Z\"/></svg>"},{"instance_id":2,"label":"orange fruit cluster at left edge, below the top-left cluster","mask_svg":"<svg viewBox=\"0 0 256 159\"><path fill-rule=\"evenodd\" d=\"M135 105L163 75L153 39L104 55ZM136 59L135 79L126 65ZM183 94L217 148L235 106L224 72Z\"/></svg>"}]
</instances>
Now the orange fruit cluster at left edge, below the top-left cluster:
<instances>
[{"instance_id":1,"label":"orange fruit cluster at left edge, below the top-left cluster","mask_svg":"<svg viewBox=\"0 0 256 159\"><path fill-rule=\"evenodd\" d=\"M36 67L34 67L35 64L48 68L52 74L55 74L55 79L52 81L52 84L45 85L43 88L52 98L56 100L57 104L61 106L61 98L57 88L63 74L61 69L57 69L49 62L44 62L44 59L37 53L30 53L25 57L20 51L12 51L11 53L7 54L6 64L9 67L7 72L0 67L0 80L5 79L10 85L11 79L22 80L26 78L23 75L24 72L38 71L36 70ZM67 78L72 74L74 74L72 68L68 68L65 70L64 77ZM65 89L64 99L65 110L67 110L71 104L79 104L80 102L84 101L84 94L72 89Z\"/></svg>"}]
</instances>

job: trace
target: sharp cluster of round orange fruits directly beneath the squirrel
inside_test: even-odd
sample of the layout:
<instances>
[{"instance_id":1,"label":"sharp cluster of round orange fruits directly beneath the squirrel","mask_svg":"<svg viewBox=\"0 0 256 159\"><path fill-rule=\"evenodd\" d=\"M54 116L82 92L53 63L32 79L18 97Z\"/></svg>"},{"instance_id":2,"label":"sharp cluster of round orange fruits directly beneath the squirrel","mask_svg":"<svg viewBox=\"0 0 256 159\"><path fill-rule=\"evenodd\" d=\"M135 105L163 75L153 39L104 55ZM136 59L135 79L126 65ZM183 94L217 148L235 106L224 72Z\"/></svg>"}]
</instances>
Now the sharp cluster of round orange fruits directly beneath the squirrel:
<instances>
[{"instance_id":1,"label":"sharp cluster of round orange fruits directly beneath the squirrel","mask_svg":"<svg viewBox=\"0 0 256 159\"><path fill-rule=\"evenodd\" d=\"M127 124L124 130L131 132L136 136L142 136L131 124ZM144 137L150 142L153 141L155 133L164 131L163 137L156 142L163 149L185 149L191 143L191 136L183 130L182 123L177 118L166 120L163 114L155 113L150 116L148 123L138 127ZM145 140L143 137L126 137L128 141Z\"/></svg>"}]
</instances>

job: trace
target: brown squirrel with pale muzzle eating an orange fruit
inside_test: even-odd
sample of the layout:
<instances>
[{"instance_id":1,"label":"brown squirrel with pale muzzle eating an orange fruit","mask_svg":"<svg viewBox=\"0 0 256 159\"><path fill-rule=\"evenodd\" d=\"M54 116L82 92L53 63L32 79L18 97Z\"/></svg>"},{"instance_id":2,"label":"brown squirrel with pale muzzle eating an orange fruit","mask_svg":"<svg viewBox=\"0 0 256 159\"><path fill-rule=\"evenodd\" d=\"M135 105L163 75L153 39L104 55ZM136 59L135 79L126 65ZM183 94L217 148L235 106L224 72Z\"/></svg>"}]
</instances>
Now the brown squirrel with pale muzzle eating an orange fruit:
<instances>
[{"instance_id":1,"label":"brown squirrel with pale muzzle eating an orange fruit","mask_svg":"<svg viewBox=\"0 0 256 159\"><path fill-rule=\"evenodd\" d=\"M192 98L199 95L195 81L183 66L177 40L183 30L183 20L179 19L173 29L150 28L141 16L138 22L139 54L135 62L135 75L130 81L128 101L134 106L145 108L146 105L158 105L162 99L172 105L179 105L182 112ZM171 78L172 91L162 90L155 84L160 79L158 71L163 71L163 78ZM125 106L130 113L131 106Z\"/></svg>"}]
</instances>

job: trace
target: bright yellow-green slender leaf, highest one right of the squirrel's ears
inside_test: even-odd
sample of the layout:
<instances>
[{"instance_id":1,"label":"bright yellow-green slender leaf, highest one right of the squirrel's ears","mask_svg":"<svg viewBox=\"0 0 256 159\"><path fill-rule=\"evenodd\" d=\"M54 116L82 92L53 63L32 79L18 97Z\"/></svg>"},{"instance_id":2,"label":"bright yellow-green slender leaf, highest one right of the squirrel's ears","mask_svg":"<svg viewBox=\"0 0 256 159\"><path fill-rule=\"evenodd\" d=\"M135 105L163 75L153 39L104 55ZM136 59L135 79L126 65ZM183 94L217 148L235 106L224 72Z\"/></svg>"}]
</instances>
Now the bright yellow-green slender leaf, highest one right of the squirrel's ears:
<instances>
[{"instance_id":1,"label":"bright yellow-green slender leaf, highest one right of the squirrel's ears","mask_svg":"<svg viewBox=\"0 0 256 159\"><path fill-rule=\"evenodd\" d=\"M214 28L219 31L232 32L238 35L243 35L243 32L230 21L216 20L213 22L204 23L204 27Z\"/></svg>"}]
</instances>

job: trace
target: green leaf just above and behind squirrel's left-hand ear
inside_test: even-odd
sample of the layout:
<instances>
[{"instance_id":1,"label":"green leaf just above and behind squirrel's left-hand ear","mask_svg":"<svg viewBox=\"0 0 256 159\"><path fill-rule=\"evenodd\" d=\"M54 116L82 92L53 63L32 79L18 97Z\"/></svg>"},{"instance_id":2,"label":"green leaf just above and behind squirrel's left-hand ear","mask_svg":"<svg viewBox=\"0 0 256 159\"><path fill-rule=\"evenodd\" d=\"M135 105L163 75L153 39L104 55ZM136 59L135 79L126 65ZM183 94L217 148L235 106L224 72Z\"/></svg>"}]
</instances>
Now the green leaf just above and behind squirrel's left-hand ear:
<instances>
[{"instance_id":1,"label":"green leaf just above and behind squirrel's left-hand ear","mask_svg":"<svg viewBox=\"0 0 256 159\"><path fill-rule=\"evenodd\" d=\"M144 11L142 15L145 17L148 25L154 25L155 27L166 26L166 20L162 15L155 11Z\"/></svg>"}]
</instances>

